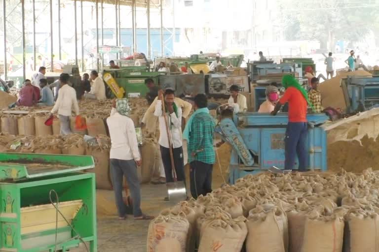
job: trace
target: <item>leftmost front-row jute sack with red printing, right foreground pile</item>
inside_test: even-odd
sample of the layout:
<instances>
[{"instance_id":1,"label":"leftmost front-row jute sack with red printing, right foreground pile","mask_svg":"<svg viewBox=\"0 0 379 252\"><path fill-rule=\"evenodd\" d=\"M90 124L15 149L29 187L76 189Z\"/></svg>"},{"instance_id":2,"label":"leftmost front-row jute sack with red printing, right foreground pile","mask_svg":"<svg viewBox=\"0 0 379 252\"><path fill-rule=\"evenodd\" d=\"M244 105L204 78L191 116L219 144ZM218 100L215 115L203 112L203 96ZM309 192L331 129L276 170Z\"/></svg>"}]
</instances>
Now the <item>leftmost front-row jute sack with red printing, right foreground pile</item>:
<instances>
[{"instance_id":1,"label":"leftmost front-row jute sack with red printing, right foreground pile","mask_svg":"<svg viewBox=\"0 0 379 252\"><path fill-rule=\"evenodd\" d=\"M186 252L189 222L182 212L179 215L158 216L150 222L148 252Z\"/></svg>"}]
</instances>

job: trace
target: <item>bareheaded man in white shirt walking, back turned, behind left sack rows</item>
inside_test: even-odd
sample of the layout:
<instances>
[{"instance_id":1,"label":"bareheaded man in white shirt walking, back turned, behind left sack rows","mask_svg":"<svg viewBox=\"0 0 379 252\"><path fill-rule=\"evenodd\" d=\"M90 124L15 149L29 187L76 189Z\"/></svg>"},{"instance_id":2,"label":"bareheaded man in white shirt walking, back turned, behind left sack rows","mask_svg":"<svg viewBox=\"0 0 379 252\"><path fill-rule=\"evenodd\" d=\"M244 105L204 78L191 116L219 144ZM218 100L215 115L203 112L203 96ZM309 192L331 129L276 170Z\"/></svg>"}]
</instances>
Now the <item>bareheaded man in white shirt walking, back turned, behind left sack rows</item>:
<instances>
[{"instance_id":1,"label":"bareheaded man in white shirt walking, back turned, behind left sack rows","mask_svg":"<svg viewBox=\"0 0 379 252\"><path fill-rule=\"evenodd\" d=\"M61 125L60 134L72 134L70 127L71 111L74 106L76 116L79 115L79 106L77 105L75 89L69 85L70 76L67 73L61 73L59 80L61 88L59 89L58 99L55 102L51 114L58 111L58 118Z\"/></svg>"}]
</instances>

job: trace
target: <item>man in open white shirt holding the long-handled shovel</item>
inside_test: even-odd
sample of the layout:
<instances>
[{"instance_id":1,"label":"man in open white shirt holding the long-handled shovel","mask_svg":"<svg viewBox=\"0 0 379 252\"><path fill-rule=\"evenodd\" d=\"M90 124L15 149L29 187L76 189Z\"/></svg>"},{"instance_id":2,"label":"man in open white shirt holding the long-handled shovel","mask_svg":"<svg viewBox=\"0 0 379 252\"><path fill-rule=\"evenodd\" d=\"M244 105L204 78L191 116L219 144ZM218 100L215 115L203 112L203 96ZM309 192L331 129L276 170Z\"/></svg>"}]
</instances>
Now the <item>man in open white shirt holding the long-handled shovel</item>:
<instances>
[{"instance_id":1,"label":"man in open white shirt holding the long-handled shovel","mask_svg":"<svg viewBox=\"0 0 379 252\"><path fill-rule=\"evenodd\" d=\"M164 96L164 101L162 97ZM166 175L166 183L174 182L172 175L172 166L170 158L170 148L174 156L174 165L178 181L186 181L184 173L183 159L183 140L182 140L182 108L174 102L175 93L172 89L159 90L158 99L155 104L154 116L158 117L159 121L159 140L160 153L164 165ZM162 112L162 102L165 103L166 111ZM167 128L163 113L166 113L167 122L169 125L167 136ZM169 145L168 137L170 137L171 146ZM168 200L168 198L165 198Z\"/></svg>"}]
</instances>

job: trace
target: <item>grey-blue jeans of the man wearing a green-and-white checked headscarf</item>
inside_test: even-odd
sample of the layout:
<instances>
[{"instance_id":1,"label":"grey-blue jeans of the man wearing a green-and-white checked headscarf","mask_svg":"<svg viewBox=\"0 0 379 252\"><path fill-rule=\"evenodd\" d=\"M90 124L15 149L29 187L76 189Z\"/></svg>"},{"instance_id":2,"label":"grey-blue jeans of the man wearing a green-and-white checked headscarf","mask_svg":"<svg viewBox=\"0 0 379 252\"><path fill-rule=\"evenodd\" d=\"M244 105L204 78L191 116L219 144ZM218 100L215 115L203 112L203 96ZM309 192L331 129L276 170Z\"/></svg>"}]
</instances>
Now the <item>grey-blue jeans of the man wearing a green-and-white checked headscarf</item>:
<instances>
[{"instance_id":1,"label":"grey-blue jeans of the man wearing a green-and-white checked headscarf","mask_svg":"<svg viewBox=\"0 0 379 252\"><path fill-rule=\"evenodd\" d=\"M122 181L125 176L128 182L130 195L133 200L134 217L141 217L141 190L137 176L137 165L134 160L120 160L111 158L111 176L113 181L114 197L119 217L126 215L126 206L122 199Z\"/></svg>"}]
</instances>

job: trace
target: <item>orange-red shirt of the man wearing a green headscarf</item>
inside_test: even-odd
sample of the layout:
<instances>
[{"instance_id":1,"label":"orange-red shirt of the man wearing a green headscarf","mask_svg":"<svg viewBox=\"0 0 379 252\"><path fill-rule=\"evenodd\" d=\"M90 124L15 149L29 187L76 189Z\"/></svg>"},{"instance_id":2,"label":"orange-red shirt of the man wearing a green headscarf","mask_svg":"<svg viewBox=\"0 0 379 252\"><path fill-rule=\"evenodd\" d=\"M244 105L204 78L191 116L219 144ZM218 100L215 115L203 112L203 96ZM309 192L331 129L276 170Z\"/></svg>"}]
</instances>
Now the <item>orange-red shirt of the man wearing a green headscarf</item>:
<instances>
[{"instance_id":1,"label":"orange-red shirt of the man wearing a green headscarf","mask_svg":"<svg viewBox=\"0 0 379 252\"><path fill-rule=\"evenodd\" d=\"M308 104L302 92L294 87L289 87L279 100L280 104L288 102L288 121L291 123L306 122L306 109Z\"/></svg>"}]
</instances>

